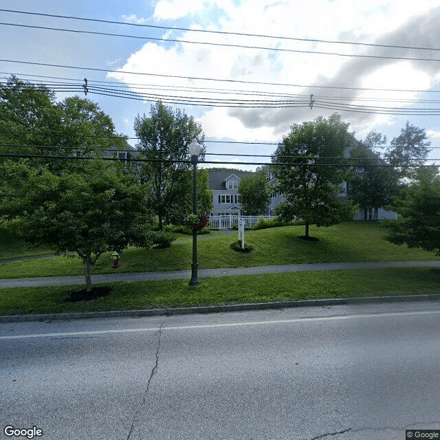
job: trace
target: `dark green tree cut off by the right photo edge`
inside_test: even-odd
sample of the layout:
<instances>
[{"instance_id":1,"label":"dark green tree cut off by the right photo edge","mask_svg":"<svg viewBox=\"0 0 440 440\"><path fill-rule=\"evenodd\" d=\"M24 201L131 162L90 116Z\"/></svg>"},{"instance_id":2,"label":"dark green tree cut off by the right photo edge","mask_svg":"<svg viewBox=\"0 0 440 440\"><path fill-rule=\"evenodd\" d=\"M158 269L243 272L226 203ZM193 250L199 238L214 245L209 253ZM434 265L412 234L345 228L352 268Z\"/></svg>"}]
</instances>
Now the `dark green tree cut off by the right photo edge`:
<instances>
[{"instance_id":1,"label":"dark green tree cut off by the right photo edge","mask_svg":"<svg viewBox=\"0 0 440 440\"><path fill-rule=\"evenodd\" d=\"M416 181L395 199L401 219L388 221L388 241L423 248L440 256L440 176L428 168L417 170Z\"/></svg>"}]
</instances>

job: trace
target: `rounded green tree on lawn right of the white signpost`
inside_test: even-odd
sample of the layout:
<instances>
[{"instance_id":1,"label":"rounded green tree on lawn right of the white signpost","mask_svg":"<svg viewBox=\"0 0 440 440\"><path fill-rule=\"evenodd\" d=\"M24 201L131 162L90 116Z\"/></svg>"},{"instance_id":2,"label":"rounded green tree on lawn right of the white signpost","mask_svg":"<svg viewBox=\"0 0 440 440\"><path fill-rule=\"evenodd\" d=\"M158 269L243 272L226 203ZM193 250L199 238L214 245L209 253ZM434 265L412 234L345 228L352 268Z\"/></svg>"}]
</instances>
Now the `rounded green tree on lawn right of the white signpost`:
<instances>
[{"instance_id":1,"label":"rounded green tree on lawn right of the white signpost","mask_svg":"<svg viewBox=\"0 0 440 440\"><path fill-rule=\"evenodd\" d=\"M285 201L276 212L283 220L302 219L305 238L309 225L329 226L340 223L354 212L351 201L338 197L338 189L347 180L347 162L343 157L350 140L349 124L334 113L328 119L294 124L290 133L272 156L274 174ZM283 165L294 162L296 165Z\"/></svg>"}]
</instances>

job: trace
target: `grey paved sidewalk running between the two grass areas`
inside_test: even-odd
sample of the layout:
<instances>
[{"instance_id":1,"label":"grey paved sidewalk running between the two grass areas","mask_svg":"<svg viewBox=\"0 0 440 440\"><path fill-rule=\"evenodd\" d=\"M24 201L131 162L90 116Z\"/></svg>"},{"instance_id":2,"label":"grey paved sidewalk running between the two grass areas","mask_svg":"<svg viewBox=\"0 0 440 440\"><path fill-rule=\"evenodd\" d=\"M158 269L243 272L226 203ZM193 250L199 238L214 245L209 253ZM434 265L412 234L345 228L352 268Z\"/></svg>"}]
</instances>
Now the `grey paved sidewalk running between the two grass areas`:
<instances>
[{"instance_id":1,"label":"grey paved sidewalk running between the two grass areas","mask_svg":"<svg viewBox=\"0 0 440 440\"><path fill-rule=\"evenodd\" d=\"M291 264L258 267L222 267L219 269L199 269L200 278L218 278L221 276L279 274L286 272L322 271L322 270L355 270L381 269L392 267L440 267L440 261L366 261L358 263L315 263ZM93 283L113 283L121 281L153 281L170 279L189 279L190 270L165 272L126 272L92 275ZM0 289L13 287L45 287L84 284L83 275L50 276L43 278L9 278L0 280Z\"/></svg>"}]
</instances>

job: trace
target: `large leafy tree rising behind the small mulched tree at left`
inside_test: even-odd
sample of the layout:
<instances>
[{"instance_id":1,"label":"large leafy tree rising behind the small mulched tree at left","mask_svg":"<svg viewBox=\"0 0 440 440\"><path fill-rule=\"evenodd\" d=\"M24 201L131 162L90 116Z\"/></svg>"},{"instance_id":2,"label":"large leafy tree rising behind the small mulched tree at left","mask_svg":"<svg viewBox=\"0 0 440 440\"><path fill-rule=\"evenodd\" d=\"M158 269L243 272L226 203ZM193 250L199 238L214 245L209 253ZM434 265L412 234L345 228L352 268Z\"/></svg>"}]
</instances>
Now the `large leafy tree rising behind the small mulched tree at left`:
<instances>
[{"instance_id":1,"label":"large leafy tree rising behind the small mulched tree at left","mask_svg":"<svg viewBox=\"0 0 440 440\"><path fill-rule=\"evenodd\" d=\"M0 83L0 153L100 157L104 148L122 149L125 142L96 102L74 96L56 103L47 87L15 76ZM59 174L83 161L50 157L33 159L30 166L45 164Z\"/></svg>"}]
</instances>

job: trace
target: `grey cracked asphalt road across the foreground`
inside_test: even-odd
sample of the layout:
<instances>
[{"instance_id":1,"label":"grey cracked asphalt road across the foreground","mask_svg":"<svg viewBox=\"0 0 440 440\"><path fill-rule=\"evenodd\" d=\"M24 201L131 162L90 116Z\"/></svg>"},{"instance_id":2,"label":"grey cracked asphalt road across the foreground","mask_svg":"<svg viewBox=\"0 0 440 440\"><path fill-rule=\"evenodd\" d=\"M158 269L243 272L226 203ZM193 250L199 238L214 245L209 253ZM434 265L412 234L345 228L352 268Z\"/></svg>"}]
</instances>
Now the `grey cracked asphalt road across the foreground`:
<instances>
[{"instance_id":1,"label":"grey cracked asphalt road across the foreground","mask_svg":"<svg viewBox=\"0 0 440 440\"><path fill-rule=\"evenodd\" d=\"M3 323L0 420L48 440L403 440L440 429L439 324L432 302Z\"/></svg>"}]
</instances>

